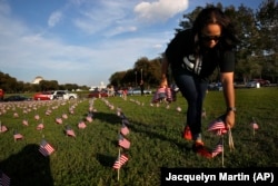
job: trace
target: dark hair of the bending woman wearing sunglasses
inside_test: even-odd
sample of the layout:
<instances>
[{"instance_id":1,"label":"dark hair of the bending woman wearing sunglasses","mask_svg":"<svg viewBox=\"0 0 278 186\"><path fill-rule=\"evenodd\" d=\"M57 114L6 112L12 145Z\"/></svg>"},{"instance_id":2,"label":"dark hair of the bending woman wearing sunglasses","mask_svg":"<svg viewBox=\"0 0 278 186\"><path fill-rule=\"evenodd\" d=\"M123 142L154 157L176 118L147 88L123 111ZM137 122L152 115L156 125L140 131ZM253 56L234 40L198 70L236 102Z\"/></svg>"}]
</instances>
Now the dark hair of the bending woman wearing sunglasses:
<instances>
[{"instance_id":1,"label":"dark hair of the bending woman wearing sunglasses","mask_svg":"<svg viewBox=\"0 0 278 186\"><path fill-rule=\"evenodd\" d=\"M201 10L193 22L193 36L197 35L200 38L202 28L210 23L217 23L221 27L221 46L232 48L239 42L235 26L230 19L216 7L209 7Z\"/></svg>"}]
</instances>

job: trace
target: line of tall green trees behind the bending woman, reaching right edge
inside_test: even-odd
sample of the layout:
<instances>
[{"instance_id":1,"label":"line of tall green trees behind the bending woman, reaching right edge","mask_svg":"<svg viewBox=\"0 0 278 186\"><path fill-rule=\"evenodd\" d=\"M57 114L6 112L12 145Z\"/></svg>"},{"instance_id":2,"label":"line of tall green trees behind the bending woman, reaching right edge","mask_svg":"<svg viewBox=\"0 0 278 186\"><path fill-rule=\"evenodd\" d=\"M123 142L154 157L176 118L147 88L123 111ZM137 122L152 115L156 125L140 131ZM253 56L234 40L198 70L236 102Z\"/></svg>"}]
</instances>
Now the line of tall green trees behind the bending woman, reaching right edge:
<instances>
[{"instance_id":1,"label":"line of tall green trees behind the bending woman, reaching right edge","mask_svg":"<svg viewBox=\"0 0 278 186\"><path fill-rule=\"evenodd\" d=\"M254 78L278 81L277 61L277 32L278 32L278 4L276 0L265 0L257 10L240 4L221 8L237 26L241 43L237 49L236 81L248 81ZM201 11L197 7L192 12L183 14L175 33L191 28L192 20ZM162 51L161 51L162 53ZM142 78L149 86L158 86L160 81L161 57L149 60L146 57L138 59L132 69L117 71L110 77L110 84L115 87L138 86ZM169 77L171 81L171 77ZM211 76L211 81L218 80L217 71Z\"/></svg>"}]
</instances>

